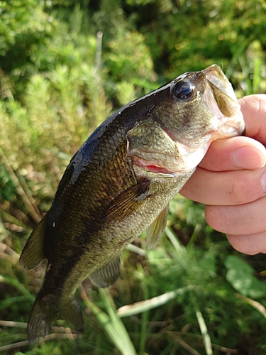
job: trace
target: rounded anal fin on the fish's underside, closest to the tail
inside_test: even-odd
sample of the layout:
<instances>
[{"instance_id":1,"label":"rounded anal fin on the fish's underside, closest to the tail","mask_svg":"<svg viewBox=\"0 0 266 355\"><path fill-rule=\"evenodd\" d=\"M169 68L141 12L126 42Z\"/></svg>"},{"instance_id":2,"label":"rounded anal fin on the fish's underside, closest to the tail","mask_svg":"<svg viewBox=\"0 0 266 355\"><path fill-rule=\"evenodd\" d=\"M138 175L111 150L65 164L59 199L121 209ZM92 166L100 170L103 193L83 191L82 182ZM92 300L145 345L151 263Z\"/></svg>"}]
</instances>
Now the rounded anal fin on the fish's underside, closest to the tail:
<instances>
[{"instance_id":1,"label":"rounded anal fin on the fish's underside, closest to the tail","mask_svg":"<svg viewBox=\"0 0 266 355\"><path fill-rule=\"evenodd\" d=\"M113 258L111 263L95 271L90 278L100 288L108 288L116 282L120 275L120 255Z\"/></svg>"}]
</instances>

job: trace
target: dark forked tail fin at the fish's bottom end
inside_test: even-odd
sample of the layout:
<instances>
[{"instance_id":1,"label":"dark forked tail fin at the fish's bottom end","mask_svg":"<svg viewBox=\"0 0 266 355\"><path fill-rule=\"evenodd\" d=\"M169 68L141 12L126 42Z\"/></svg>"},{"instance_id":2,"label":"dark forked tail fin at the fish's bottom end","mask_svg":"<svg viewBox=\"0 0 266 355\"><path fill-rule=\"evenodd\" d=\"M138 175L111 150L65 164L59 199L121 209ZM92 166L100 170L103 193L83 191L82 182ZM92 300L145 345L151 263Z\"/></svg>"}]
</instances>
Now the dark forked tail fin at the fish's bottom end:
<instances>
[{"instance_id":1,"label":"dark forked tail fin at the fish's bottom end","mask_svg":"<svg viewBox=\"0 0 266 355\"><path fill-rule=\"evenodd\" d=\"M70 302L61 306L60 304L52 304L48 298L49 296L43 297L40 292L34 302L27 327L30 344L38 342L40 337L45 337L50 333L52 320L65 319L78 328L81 328L84 324L82 309L76 300L70 300Z\"/></svg>"}]
</instances>

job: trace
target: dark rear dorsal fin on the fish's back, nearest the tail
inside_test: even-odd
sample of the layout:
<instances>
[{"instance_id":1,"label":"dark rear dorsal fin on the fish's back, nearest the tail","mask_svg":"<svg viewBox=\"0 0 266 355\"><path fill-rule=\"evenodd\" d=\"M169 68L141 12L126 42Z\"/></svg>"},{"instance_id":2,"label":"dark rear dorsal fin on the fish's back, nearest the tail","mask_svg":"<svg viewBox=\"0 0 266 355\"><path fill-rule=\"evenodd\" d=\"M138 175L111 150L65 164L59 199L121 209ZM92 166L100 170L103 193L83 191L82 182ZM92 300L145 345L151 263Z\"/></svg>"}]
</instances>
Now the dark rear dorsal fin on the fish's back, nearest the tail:
<instances>
[{"instance_id":1,"label":"dark rear dorsal fin on the fish's back, nearest the tail","mask_svg":"<svg viewBox=\"0 0 266 355\"><path fill-rule=\"evenodd\" d=\"M31 236L24 246L21 258L19 259L19 263L24 270L36 268L36 266L38 266L43 259L45 259L43 253L45 226L46 216L40 221L35 229L33 229Z\"/></svg>"}]
</instances>

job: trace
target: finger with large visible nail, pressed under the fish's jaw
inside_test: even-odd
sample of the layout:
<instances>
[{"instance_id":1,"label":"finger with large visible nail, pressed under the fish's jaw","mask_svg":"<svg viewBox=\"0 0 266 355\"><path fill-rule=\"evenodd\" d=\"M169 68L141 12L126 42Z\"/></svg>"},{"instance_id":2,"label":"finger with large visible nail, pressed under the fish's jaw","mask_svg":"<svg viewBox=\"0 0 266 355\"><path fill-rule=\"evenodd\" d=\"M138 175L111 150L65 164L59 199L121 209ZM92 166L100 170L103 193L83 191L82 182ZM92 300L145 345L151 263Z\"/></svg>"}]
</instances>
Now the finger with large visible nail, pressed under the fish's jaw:
<instances>
[{"instance_id":1,"label":"finger with large visible nail, pressed under the fish's jaw","mask_svg":"<svg viewBox=\"0 0 266 355\"><path fill-rule=\"evenodd\" d=\"M266 163L266 149L248 137L218 139L211 143L199 166L211 171L259 169Z\"/></svg>"}]
</instances>

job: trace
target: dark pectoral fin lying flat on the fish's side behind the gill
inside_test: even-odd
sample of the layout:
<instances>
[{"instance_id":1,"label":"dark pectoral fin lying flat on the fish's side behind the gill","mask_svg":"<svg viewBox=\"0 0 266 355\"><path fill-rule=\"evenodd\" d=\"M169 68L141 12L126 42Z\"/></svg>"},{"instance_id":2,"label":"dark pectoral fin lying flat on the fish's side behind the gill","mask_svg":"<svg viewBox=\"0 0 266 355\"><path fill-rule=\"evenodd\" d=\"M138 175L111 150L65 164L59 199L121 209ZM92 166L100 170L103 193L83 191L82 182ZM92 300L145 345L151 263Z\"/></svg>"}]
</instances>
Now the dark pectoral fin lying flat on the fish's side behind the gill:
<instances>
[{"instance_id":1,"label":"dark pectoral fin lying flat on the fish's side behind the gill","mask_svg":"<svg viewBox=\"0 0 266 355\"><path fill-rule=\"evenodd\" d=\"M122 222L130 217L140 206L144 200L152 195L148 192L150 180L143 179L137 185L128 187L127 190L121 192L115 197L104 213L104 222Z\"/></svg>"}]
</instances>

